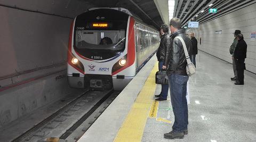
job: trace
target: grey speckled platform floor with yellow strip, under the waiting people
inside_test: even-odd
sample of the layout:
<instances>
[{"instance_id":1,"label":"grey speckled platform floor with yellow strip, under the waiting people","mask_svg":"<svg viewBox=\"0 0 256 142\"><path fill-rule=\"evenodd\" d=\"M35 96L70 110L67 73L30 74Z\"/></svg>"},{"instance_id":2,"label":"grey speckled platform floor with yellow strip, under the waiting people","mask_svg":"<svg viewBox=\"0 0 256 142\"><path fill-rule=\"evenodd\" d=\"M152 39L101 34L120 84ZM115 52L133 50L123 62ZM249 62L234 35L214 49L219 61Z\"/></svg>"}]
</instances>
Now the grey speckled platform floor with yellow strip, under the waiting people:
<instances>
[{"instance_id":1,"label":"grey speckled platform floor with yellow strip, under the waiting people","mask_svg":"<svg viewBox=\"0 0 256 142\"><path fill-rule=\"evenodd\" d=\"M78 141L256 141L256 75L245 71L245 84L235 85L232 65L202 51L188 81L188 135L165 139L174 115L170 92L154 101L157 66L153 56Z\"/></svg>"}]
</instances>

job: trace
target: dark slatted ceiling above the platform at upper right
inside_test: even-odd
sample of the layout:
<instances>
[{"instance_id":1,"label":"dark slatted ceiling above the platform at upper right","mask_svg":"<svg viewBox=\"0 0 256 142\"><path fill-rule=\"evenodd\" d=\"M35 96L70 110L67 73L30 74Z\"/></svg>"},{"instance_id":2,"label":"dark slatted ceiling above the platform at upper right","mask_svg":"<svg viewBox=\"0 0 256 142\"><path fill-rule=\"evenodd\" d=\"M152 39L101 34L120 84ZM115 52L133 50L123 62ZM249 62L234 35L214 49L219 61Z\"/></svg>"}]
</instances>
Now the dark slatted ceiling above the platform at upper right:
<instances>
[{"instance_id":1,"label":"dark slatted ceiling above the platform at upper right","mask_svg":"<svg viewBox=\"0 0 256 142\"><path fill-rule=\"evenodd\" d=\"M255 0L176 0L173 17L178 17L182 25L188 21L197 21L199 24L217 19L220 16L239 10L256 3ZM209 7L210 4L213 4ZM209 8L217 8L217 13L209 13ZM201 13L201 11L203 11ZM198 15L196 17L196 15ZM194 19L194 20L192 20Z\"/></svg>"}]
</instances>

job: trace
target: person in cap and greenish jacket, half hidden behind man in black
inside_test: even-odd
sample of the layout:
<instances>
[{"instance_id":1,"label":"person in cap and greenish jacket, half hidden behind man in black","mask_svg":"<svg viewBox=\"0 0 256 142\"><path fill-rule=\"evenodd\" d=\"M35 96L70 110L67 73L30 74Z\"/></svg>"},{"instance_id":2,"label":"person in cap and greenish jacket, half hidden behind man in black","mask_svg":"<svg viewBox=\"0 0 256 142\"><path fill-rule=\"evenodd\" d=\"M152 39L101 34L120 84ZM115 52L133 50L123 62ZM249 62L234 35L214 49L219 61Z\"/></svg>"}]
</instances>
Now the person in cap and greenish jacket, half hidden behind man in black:
<instances>
[{"instance_id":1,"label":"person in cap and greenish jacket, half hidden behind man in black","mask_svg":"<svg viewBox=\"0 0 256 142\"><path fill-rule=\"evenodd\" d=\"M234 33L235 39L233 40L233 43L232 43L232 45L229 48L229 53L232 55L233 72L234 72L234 76L235 76L235 77L231 78L231 81L238 81L238 75L237 75L237 69L236 69L236 61L235 61L235 58L234 58L234 51L235 51L236 45L238 43L237 34L240 34L240 33L241 33L240 30L235 30L235 33Z\"/></svg>"}]
</instances>

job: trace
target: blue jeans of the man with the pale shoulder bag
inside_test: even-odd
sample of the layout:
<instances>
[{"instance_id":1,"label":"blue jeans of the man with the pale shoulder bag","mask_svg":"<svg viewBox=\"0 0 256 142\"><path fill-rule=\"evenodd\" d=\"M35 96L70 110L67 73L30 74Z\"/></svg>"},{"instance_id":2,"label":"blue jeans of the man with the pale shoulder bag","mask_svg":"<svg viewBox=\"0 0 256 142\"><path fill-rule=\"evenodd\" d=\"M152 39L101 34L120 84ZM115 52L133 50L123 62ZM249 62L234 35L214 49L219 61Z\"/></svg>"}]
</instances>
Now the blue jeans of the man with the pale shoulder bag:
<instances>
[{"instance_id":1,"label":"blue jeans of the man with the pale shoulder bag","mask_svg":"<svg viewBox=\"0 0 256 142\"><path fill-rule=\"evenodd\" d=\"M188 104L186 99L188 76L173 73L168 78L175 119L172 130L183 132L188 128Z\"/></svg>"}]
</instances>

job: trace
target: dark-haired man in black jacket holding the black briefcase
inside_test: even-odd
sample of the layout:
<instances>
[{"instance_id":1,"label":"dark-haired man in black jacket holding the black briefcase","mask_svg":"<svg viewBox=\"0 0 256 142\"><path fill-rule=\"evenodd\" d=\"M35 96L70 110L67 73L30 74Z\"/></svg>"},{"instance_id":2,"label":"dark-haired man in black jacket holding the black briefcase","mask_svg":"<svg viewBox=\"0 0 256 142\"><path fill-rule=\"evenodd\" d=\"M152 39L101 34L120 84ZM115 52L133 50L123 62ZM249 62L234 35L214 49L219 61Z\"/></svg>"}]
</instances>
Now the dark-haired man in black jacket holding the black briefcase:
<instances>
[{"instance_id":1,"label":"dark-haired man in black jacket holding the black briefcase","mask_svg":"<svg viewBox=\"0 0 256 142\"><path fill-rule=\"evenodd\" d=\"M158 60L158 70L162 70L163 66L166 66L167 64L166 55L169 54L167 49L170 48L170 36L168 34L168 31L169 31L168 25L162 24L160 28L161 42L156 52L156 56ZM156 99L156 101L167 100L168 88L169 88L168 84L162 84L161 93L159 95L155 95L156 97L159 97L158 99Z\"/></svg>"}]
</instances>

